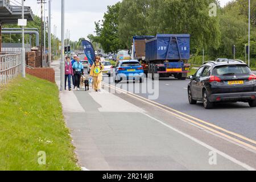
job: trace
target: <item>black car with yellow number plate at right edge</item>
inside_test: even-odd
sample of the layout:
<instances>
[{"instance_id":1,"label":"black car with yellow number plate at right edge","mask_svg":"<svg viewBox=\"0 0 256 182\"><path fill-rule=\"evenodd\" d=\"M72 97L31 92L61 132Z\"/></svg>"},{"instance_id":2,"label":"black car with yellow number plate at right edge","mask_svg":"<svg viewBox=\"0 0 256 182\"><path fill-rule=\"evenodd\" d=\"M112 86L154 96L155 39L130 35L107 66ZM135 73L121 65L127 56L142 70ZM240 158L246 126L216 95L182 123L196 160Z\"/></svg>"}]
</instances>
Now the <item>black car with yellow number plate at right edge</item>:
<instances>
[{"instance_id":1,"label":"black car with yellow number plate at right edge","mask_svg":"<svg viewBox=\"0 0 256 182\"><path fill-rule=\"evenodd\" d=\"M256 107L256 76L241 60L208 61L189 79L189 104L202 101L210 109L218 102L248 102Z\"/></svg>"}]
</instances>

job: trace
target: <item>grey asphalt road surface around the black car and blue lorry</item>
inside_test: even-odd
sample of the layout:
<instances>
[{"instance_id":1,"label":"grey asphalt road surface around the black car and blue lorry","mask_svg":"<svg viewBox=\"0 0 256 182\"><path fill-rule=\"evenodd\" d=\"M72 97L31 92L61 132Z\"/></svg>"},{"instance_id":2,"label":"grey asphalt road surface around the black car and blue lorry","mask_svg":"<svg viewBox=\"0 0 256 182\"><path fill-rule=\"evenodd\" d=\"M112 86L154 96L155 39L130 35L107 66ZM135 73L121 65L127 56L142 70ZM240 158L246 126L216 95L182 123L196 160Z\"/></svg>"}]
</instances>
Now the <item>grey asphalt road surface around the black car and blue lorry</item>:
<instances>
[{"instance_id":1,"label":"grey asphalt road surface around the black car and blue lorry","mask_svg":"<svg viewBox=\"0 0 256 182\"><path fill-rule=\"evenodd\" d=\"M107 77L104 77L104 82L109 82ZM203 103L200 102L197 105L189 105L187 97L188 82L189 80L181 81L172 77L159 78L159 97L154 101L256 140L256 108L250 108L247 103L242 102L218 104L210 110L204 109ZM127 83L120 82L117 85L119 88L120 84ZM128 85L133 85L133 82L129 82ZM135 83L135 85L138 86L139 83ZM125 87L128 88L128 86ZM134 90L129 89L129 92L131 91L134 93ZM144 98L150 96L148 93L139 93L138 95Z\"/></svg>"}]
</instances>

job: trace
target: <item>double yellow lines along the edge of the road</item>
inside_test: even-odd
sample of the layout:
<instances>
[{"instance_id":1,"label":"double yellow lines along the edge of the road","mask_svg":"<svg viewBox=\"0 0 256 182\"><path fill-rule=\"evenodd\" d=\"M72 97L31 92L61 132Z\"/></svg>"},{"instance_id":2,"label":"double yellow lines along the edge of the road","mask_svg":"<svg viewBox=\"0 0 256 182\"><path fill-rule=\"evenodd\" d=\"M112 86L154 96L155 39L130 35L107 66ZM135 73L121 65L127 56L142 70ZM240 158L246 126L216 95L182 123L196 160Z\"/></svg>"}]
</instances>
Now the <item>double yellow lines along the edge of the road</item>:
<instances>
[{"instance_id":1,"label":"double yellow lines along the edge of the road","mask_svg":"<svg viewBox=\"0 0 256 182\"><path fill-rule=\"evenodd\" d=\"M167 111L168 113L172 114L172 115L175 115L175 117L177 118L180 118L180 119L183 119L187 122L190 122L190 123L193 123L194 125L196 126L200 126L204 129L207 129L208 131L211 131L215 134L218 134L220 135L221 137L225 137L229 140L232 140L233 142L236 142L238 144L241 144L243 146L246 146L254 151L256 151L256 147L251 145L251 144L256 144L256 141L253 140L253 139L249 139L249 138L246 138L240 134L237 134L237 133L234 133L232 131L229 131L229 130L226 130L226 129L223 129L222 127L219 127L219 126L216 126L216 125L213 125L212 123L209 123L209 122L206 122L206 121L203 121L201 119L198 119L198 118L195 118L195 117L192 117L191 115L188 115L188 114L185 114L185 113L182 113L181 111L178 111L178 110L175 110L175 109L172 109L171 107L168 107L168 106L165 106L165 105L162 105L162 104L159 104L158 102L154 102L154 101L151 101L151 100L148 100L147 98L144 98L144 97L141 97L141 96L138 96L134 93L131 93L131 92L128 92L127 90L123 90L123 89L120 89L120 88L117 88L113 85L110 85L110 84L106 84L105 82L103 82L104 85L110 87L110 88L113 88L115 90L119 90L119 92L122 92L122 93L126 93L126 94L129 94L129 96L131 97L134 97L136 98L137 100L140 100L142 102L145 102L146 104L149 104L149 105L152 105L154 107L158 107L159 109L161 110L164 110L164 111ZM225 134L226 133L226 134ZM233 135L234 137L231 137L230 135ZM243 142L242 140L239 140L237 138L240 138L246 142ZM251 144L249 144L249 143Z\"/></svg>"}]
</instances>

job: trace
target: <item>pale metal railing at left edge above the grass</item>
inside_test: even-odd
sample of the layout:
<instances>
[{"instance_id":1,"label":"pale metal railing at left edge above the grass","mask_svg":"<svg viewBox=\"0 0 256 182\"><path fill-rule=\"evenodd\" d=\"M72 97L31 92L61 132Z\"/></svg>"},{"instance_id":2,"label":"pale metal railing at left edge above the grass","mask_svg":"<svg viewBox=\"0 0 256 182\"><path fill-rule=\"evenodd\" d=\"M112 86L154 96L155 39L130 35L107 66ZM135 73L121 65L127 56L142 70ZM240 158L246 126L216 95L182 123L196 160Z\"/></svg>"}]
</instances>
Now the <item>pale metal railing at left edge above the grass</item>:
<instances>
[{"instance_id":1,"label":"pale metal railing at left edge above the grass","mask_svg":"<svg viewBox=\"0 0 256 182\"><path fill-rule=\"evenodd\" d=\"M21 53L0 55L0 85L13 80L21 72ZM1 89L1 87L0 87Z\"/></svg>"}]
</instances>

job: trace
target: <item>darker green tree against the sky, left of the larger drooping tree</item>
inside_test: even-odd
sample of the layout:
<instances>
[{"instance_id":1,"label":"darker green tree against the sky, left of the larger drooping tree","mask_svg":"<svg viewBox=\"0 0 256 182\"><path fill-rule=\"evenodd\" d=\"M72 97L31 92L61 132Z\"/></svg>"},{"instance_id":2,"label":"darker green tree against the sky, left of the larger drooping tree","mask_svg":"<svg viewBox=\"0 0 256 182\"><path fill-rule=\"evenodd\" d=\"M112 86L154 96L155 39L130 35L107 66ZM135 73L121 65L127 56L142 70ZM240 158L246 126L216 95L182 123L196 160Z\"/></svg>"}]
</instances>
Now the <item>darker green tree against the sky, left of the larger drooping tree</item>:
<instances>
[{"instance_id":1,"label":"darker green tree against the sky, left of the larger drooping tree","mask_svg":"<svg viewBox=\"0 0 256 182\"><path fill-rule=\"evenodd\" d=\"M91 42L100 43L105 52L117 52L122 48L118 38L118 16L120 3L108 6L102 21L95 22L96 36L88 35ZM100 24L102 22L102 24Z\"/></svg>"}]
</instances>

